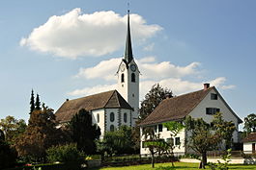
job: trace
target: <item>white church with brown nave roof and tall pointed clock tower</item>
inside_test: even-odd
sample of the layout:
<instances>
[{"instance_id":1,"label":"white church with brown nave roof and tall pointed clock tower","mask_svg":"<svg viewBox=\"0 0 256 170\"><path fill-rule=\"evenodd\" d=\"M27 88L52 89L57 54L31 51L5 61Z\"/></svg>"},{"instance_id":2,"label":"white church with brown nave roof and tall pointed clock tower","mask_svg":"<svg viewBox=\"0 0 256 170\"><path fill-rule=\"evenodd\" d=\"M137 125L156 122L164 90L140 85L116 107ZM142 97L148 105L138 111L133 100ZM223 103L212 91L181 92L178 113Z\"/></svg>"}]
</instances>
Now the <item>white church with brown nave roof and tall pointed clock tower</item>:
<instances>
[{"instance_id":1,"label":"white church with brown nave roof and tall pointed clock tower","mask_svg":"<svg viewBox=\"0 0 256 170\"><path fill-rule=\"evenodd\" d=\"M66 124L79 109L86 109L92 113L93 123L100 127L101 136L122 125L135 126L139 112L140 72L132 55L129 11L125 56L117 68L118 89L67 100L56 111L56 120Z\"/></svg>"}]
</instances>

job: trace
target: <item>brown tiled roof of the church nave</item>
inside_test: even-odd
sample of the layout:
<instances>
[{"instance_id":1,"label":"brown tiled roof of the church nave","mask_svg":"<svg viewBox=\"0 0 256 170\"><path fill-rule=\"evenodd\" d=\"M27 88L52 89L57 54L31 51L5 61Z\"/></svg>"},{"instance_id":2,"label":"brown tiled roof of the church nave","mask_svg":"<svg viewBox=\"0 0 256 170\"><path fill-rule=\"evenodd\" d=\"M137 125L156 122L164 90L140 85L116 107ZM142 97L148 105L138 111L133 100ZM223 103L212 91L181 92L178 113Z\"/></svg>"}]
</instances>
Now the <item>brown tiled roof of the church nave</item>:
<instances>
[{"instance_id":1,"label":"brown tiled roof of the church nave","mask_svg":"<svg viewBox=\"0 0 256 170\"><path fill-rule=\"evenodd\" d=\"M117 90L101 92L98 94L73 99L64 102L60 109L55 112L56 120L60 123L68 122L79 109L132 109L128 102Z\"/></svg>"}]
</instances>

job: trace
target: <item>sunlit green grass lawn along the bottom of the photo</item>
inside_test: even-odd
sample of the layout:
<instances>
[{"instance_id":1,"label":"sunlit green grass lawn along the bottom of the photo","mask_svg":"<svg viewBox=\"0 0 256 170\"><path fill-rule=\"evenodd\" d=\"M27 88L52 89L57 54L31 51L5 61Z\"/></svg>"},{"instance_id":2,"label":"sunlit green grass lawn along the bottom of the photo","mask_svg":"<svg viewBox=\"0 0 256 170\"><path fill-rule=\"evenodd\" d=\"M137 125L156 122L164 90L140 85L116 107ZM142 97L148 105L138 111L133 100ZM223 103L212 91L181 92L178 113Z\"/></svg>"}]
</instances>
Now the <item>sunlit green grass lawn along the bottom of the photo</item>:
<instances>
[{"instance_id":1,"label":"sunlit green grass lawn along the bottom of the photo","mask_svg":"<svg viewBox=\"0 0 256 170\"><path fill-rule=\"evenodd\" d=\"M171 166L171 163L156 163L155 167L159 166ZM198 163L185 163L185 162L175 162L176 169L185 170L198 170ZM136 166L124 166L124 167L103 167L92 170L153 170L151 164L143 164ZM207 167L206 169L210 169ZM230 165L229 170L256 170L256 165Z\"/></svg>"}]
</instances>

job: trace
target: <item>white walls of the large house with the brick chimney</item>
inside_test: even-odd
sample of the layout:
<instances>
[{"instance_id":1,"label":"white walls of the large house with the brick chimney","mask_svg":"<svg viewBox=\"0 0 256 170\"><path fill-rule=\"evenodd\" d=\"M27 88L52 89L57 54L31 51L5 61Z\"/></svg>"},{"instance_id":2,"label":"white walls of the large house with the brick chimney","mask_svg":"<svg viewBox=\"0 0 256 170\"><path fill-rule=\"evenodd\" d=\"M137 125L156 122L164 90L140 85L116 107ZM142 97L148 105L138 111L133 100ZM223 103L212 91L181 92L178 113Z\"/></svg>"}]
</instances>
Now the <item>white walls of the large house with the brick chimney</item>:
<instances>
[{"instance_id":1,"label":"white walls of the large house with the brick chimney","mask_svg":"<svg viewBox=\"0 0 256 170\"><path fill-rule=\"evenodd\" d=\"M217 95L217 99L212 99L211 95L212 94L216 94ZM233 112L232 109L229 108L229 106L226 104L226 102L223 100L223 98L221 97L221 95L215 90L215 88L213 88L207 95L206 97L194 108L192 109L188 115L190 115L192 118L203 118L204 121L206 121L207 123L211 123L213 121L213 114L208 114L207 113L207 109L219 109L219 111L222 113L223 119L225 121L232 121L235 126L236 126L236 130L233 133L233 142L239 142L239 123L240 123L240 119L239 117ZM163 123L163 122L162 122ZM166 128L162 128L162 132L158 132L158 125L159 124L155 124L155 125L150 125L150 126L156 126L156 133L160 134L160 138L164 139L165 141L167 140L167 138L170 138L170 132L167 131ZM140 128L141 130L141 136L142 136L142 128ZM176 137L180 138L180 148L177 148L174 150L175 153L177 154L181 154L188 151L188 149L185 147L185 138L187 137L189 132L185 132L185 129L178 134ZM141 140L143 142L143 140L145 140L143 138L144 136L141 137ZM175 139L174 139L175 140ZM141 142L141 148L140 148L140 153L142 155L145 154L150 154L149 150L146 148L143 148L143 144ZM224 146L222 146L222 149L224 148ZM245 151L245 150L244 150Z\"/></svg>"}]
</instances>

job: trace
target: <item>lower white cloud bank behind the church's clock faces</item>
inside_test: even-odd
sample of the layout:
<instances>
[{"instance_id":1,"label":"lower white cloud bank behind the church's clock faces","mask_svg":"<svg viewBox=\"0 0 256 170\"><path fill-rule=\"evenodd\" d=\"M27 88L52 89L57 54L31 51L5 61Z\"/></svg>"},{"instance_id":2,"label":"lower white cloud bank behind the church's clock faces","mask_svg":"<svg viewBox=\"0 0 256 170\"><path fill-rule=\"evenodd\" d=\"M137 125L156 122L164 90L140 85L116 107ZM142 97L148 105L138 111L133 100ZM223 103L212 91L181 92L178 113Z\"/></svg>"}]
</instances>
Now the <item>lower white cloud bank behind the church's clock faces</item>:
<instances>
[{"instance_id":1,"label":"lower white cloud bank behind the church's clock faces","mask_svg":"<svg viewBox=\"0 0 256 170\"><path fill-rule=\"evenodd\" d=\"M80 69L79 73L75 77L83 77L85 79L104 79L105 81L113 82L117 80L117 77L114 76L114 74L116 73L120 62L121 58L100 61L100 63L94 67ZM155 84L170 88L175 95L202 89L204 83L210 83L211 85L221 89L231 89L235 87L235 85L225 85L226 78L224 77L218 77L208 81L185 80L185 76L198 76L201 73L198 68L200 63L198 62L191 62L185 66L177 66L169 61L156 62L154 57L148 57L138 60L137 63L143 74L142 77L144 75L150 75L147 77L144 76L144 79L141 79L140 81L140 100L143 99L152 85ZM76 89L69 94L81 96L115 88L115 85L97 85L92 88L85 87L84 89Z\"/></svg>"}]
</instances>

